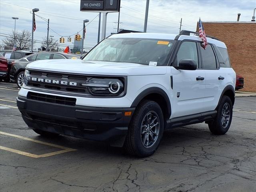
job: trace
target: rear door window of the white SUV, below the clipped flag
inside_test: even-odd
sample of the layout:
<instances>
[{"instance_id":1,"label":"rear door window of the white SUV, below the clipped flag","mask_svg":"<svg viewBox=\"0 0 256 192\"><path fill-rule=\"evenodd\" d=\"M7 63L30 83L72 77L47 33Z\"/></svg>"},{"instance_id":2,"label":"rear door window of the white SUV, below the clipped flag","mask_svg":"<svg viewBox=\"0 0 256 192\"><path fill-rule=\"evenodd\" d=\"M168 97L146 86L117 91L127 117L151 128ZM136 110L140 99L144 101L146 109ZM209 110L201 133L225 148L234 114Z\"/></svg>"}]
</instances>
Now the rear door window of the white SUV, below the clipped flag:
<instances>
[{"instance_id":1,"label":"rear door window of the white SUV, below the clipped flag","mask_svg":"<svg viewBox=\"0 0 256 192\"><path fill-rule=\"evenodd\" d=\"M200 46L200 53L202 58L202 68L203 69L216 69L217 62L214 51L211 45L206 46L206 49Z\"/></svg>"}]
</instances>

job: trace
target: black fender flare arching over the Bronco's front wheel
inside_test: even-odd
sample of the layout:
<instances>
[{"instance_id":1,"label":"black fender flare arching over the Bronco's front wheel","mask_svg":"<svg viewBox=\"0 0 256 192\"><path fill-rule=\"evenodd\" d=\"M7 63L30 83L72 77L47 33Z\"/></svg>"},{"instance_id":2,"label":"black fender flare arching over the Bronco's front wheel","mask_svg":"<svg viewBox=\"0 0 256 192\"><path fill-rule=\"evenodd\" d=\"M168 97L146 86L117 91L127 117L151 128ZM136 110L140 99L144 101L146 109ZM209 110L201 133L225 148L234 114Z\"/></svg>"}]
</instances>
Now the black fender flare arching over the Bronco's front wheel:
<instances>
[{"instance_id":1,"label":"black fender flare arching over the Bronco's front wheel","mask_svg":"<svg viewBox=\"0 0 256 192\"><path fill-rule=\"evenodd\" d=\"M150 87L150 88L147 88L145 90L143 90L140 94L138 94L138 96L134 99L134 101L132 102L132 105L131 107L137 107L138 104L140 103L140 101L148 96L149 94L160 94L165 102L166 102L166 105L167 105L167 113L166 114L168 117L171 116L171 103L170 103L170 100L169 100L169 97L168 95L166 94L166 92L164 90L162 90L161 88L159 87Z\"/></svg>"}]
</instances>

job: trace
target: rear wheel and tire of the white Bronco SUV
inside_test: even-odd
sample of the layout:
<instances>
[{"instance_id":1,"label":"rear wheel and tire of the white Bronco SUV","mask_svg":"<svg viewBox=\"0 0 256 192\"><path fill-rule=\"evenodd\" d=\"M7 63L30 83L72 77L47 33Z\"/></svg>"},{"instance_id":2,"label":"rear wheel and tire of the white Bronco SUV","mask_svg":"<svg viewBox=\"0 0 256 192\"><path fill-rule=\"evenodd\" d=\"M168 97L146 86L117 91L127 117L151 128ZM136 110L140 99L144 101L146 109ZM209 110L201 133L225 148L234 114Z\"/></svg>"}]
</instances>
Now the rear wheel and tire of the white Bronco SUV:
<instances>
[{"instance_id":1,"label":"rear wheel and tire of the white Bronco SUV","mask_svg":"<svg viewBox=\"0 0 256 192\"><path fill-rule=\"evenodd\" d=\"M225 115L224 115L225 113ZM216 135L225 134L231 124L233 105L228 96L223 96L217 107L217 115L213 122L208 124L210 131Z\"/></svg>"}]
</instances>

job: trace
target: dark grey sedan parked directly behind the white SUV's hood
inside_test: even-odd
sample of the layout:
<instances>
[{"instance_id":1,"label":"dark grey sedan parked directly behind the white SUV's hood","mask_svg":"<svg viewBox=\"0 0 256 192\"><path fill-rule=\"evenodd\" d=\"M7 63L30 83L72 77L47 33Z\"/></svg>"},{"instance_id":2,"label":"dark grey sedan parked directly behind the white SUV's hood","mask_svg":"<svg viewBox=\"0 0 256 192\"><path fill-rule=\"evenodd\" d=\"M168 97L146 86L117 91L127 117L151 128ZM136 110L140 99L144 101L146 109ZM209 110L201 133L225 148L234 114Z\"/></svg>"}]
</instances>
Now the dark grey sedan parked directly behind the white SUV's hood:
<instances>
[{"instance_id":1,"label":"dark grey sedan parked directly behind the white SUV's hood","mask_svg":"<svg viewBox=\"0 0 256 192\"><path fill-rule=\"evenodd\" d=\"M79 55L66 54L59 52L40 52L35 53L30 56L26 56L22 59L16 60L12 63L12 68L10 70L10 79L12 82L16 82L20 88L24 80L24 71L27 64L38 61L38 60L48 60L48 59L80 59Z\"/></svg>"}]
</instances>

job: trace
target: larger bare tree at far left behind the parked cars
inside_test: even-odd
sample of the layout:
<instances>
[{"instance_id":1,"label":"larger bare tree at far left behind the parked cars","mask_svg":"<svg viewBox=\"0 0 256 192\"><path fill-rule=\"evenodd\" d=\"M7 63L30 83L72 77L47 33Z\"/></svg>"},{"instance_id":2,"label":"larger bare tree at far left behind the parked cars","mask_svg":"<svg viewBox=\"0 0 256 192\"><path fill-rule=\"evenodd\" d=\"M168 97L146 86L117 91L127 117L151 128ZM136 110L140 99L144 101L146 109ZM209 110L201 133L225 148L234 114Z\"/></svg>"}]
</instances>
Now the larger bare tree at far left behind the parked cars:
<instances>
[{"instance_id":1,"label":"larger bare tree at far left behind the parked cars","mask_svg":"<svg viewBox=\"0 0 256 192\"><path fill-rule=\"evenodd\" d=\"M3 40L4 44L9 48L14 46L14 31L10 34L10 37L6 37ZM17 50L28 50L31 44L31 32L28 30L22 30L22 32L15 33L15 45Z\"/></svg>"}]
</instances>

